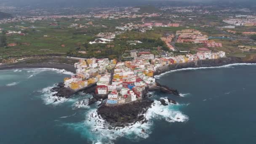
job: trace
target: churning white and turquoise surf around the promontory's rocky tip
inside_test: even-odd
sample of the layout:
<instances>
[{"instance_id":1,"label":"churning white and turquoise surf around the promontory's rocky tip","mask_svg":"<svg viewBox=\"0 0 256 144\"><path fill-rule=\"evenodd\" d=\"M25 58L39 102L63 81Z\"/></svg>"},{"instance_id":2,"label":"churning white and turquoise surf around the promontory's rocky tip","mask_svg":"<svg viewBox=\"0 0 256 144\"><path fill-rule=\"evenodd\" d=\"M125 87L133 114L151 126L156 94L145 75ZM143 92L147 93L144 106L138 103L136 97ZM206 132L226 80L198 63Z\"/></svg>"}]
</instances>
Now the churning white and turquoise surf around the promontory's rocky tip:
<instances>
[{"instance_id":1,"label":"churning white and turquoise surf around the promontory's rocky tip","mask_svg":"<svg viewBox=\"0 0 256 144\"><path fill-rule=\"evenodd\" d=\"M71 123L68 126L93 141L93 144L114 144L113 141L120 137L139 141L149 137L152 133L152 125L156 119L165 120L169 123L186 122L189 120L187 115L182 114L174 107L179 107L179 105L168 104L168 106L163 106L160 101L155 100L152 107L144 114L148 120L147 123L137 122L125 128L116 127L113 129L109 129L110 125L97 114L97 109L91 109L86 113L83 123Z\"/></svg>"}]
</instances>

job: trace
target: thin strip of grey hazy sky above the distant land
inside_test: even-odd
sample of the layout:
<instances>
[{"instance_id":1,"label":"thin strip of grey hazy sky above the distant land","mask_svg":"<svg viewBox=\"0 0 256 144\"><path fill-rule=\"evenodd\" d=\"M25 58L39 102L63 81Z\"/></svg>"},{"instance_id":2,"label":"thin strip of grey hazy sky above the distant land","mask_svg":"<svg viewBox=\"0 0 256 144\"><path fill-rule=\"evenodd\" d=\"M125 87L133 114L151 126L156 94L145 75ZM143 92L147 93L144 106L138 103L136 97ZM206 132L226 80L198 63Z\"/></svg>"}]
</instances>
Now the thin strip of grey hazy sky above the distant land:
<instances>
[{"instance_id":1,"label":"thin strip of grey hazy sky above the distant land","mask_svg":"<svg viewBox=\"0 0 256 144\"><path fill-rule=\"evenodd\" d=\"M175 2L174 2L175 1ZM0 0L1 3L9 5L35 5L35 6L131 6L144 4L191 4L194 2L200 3L255 3L256 0ZM200 4L199 3L199 4Z\"/></svg>"}]
</instances>

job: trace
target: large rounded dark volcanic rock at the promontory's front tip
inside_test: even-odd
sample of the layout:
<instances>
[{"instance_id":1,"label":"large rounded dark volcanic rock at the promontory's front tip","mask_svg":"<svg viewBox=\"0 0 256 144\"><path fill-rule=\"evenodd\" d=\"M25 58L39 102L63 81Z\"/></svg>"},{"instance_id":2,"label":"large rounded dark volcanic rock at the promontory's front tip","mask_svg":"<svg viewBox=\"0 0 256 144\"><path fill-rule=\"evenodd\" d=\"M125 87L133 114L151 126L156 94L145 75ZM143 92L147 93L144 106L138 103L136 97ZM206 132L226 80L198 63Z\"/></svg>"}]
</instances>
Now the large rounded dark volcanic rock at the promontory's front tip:
<instances>
[{"instance_id":1,"label":"large rounded dark volcanic rock at the promontory's front tip","mask_svg":"<svg viewBox=\"0 0 256 144\"><path fill-rule=\"evenodd\" d=\"M134 101L116 106L102 106L98 109L98 115L107 120L111 125L123 127L137 121L145 120L144 114L154 101Z\"/></svg>"}]
</instances>

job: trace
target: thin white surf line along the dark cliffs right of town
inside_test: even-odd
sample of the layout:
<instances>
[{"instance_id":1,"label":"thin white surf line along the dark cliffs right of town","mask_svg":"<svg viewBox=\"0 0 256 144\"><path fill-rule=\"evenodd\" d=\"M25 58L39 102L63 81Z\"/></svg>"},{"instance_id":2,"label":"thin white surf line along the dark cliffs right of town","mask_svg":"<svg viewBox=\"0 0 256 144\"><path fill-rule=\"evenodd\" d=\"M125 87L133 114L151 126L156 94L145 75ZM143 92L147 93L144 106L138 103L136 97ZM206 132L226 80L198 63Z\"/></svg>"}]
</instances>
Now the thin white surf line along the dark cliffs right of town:
<instances>
[{"instance_id":1,"label":"thin white surf line along the dark cliffs right of town","mask_svg":"<svg viewBox=\"0 0 256 144\"><path fill-rule=\"evenodd\" d=\"M166 74L171 73L171 72L178 72L178 71L185 71L185 70L197 70L197 69L233 68L232 66L243 66L243 65L251 66L251 65L256 65L256 64L240 63L240 64L227 64L227 65L223 65L223 66L219 66L219 67L196 67L196 68L175 69L175 70L171 70L171 71L168 71L168 72L164 72L160 75L155 75L155 78L160 79L160 77L163 77L163 75L166 75Z\"/></svg>"}]
</instances>

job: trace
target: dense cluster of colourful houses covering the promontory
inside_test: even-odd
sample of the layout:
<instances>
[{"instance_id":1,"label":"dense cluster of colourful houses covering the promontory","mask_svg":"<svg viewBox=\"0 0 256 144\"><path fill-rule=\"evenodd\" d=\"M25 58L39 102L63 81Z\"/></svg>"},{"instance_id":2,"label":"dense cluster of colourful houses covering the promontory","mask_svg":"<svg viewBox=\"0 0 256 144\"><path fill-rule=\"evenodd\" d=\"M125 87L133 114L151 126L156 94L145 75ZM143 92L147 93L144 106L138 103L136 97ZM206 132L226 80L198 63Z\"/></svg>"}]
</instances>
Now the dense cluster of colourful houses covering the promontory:
<instances>
[{"instance_id":1,"label":"dense cluster of colourful houses covering the promontory","mask_svg":"<svg viewBox=\"0 0 256 144\"><path fill-rule=\"evenodd\" d=\"M104 100L105 104L125 104L142 99L145 88L155 85L154 72L157 68L197 60L219 59L225 57L225 52L214 53L208 48L198 48L196 54L155 58L153 54L132 50L131 56L132 61L123 62L117 62L116 59L81 59L74 64L76 74L64 78L64 85L80 91L96 84L95 93L108 96Z\"/></svg>"}]
</instances>

